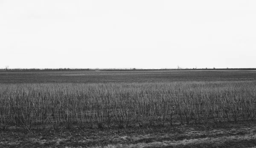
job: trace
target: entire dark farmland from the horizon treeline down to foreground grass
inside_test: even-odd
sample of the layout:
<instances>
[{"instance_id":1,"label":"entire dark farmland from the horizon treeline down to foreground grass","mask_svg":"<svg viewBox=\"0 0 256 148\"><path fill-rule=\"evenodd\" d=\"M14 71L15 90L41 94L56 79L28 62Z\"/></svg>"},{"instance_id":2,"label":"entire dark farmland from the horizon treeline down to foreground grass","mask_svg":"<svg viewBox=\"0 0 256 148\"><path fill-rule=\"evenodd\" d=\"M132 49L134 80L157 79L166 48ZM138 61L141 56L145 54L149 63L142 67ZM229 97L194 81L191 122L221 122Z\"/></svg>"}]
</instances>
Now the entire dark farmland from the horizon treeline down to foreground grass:
<instances>
[{"instance_id":1,"label":"entire dark farmland from the horizon treeline down to foreground grass","mask_svg":"<svg viewBox=\"0 0 256 148\"><path fill-rule=\"evenodd\" d=\"M0 117L2 147L253 147L256 71L0 71Z\"/></svg>"}]
</instances>

